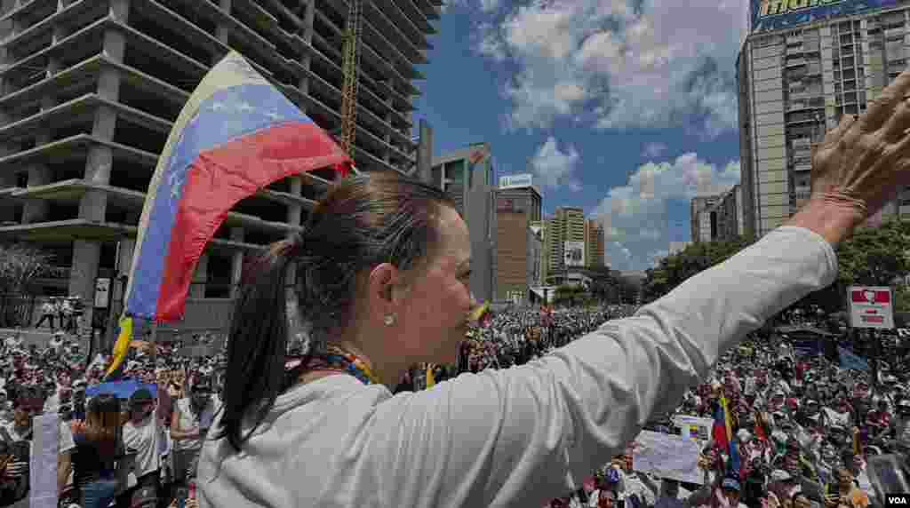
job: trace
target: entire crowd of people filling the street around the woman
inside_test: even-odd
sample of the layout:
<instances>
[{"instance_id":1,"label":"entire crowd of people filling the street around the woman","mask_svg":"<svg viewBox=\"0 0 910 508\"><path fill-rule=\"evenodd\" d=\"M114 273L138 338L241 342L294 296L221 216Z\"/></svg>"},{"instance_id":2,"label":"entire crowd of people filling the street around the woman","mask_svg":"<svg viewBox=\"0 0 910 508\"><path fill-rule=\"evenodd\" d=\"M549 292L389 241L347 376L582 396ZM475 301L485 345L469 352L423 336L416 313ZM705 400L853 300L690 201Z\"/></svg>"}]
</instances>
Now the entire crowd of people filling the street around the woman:
<instances>
[{"instance_id":1,"label":"entire crowd of people filling the street around the woman","mask_svg":"<svg viewBox=\"0 0 910 508\"><path fill-rule=\"evenodd\" d=\"M632 306L596 309L521 308L490 316L471 330L459 361L410 371L396 391L426 389L458 374L532 362ZM824 315L789 314L812 325ZM830 325L830 323L828 323ZM829 326L831 328L831 326ZM864 353L855 334L831 335ZM698 467L703 483L682 483L637 471L635 443L626 453L554 499L557 507L865 508L875 502L866 474L871 455L910 451L910 344L878 337L888 361L844 368L837 358L803 354L786 334L767 327L727 354L706 383L674 412L645 427L679 433L679 415L715 418L721 398L733 444L704 436ZM197 342L205 341L201 337ZM863 342L868 342L863 341ZM56 331L45 347L18 336L0 344L0 506L27 506L32 416L60 419L60 506L187 506L208 426L220 403L222 355L181 357L182 343L131 350L122 379L136 390L118 398L98 390L109 358L86 358L72 335ZM855 366L855 365L854 365ZM86 396L95 393L95 396ZM24 444L25 443L25 444ZM730 446L736 447L736 457ZM736 464L734 467L734 463Z\"/></svg>"}]
</instances>

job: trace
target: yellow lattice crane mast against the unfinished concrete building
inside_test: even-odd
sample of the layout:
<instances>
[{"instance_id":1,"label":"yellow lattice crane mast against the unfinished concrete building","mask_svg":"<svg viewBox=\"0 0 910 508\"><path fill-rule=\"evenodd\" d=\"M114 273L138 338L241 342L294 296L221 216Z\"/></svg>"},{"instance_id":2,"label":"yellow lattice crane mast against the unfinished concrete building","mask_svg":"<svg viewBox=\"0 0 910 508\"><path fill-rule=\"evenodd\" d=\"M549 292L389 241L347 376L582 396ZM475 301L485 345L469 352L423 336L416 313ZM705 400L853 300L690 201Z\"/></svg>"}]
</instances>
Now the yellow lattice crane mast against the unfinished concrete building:
<instances>
[{"instance_id":1,"label":"yellow lattice crane mast against the unfinished concrete building","mask_svg":"<svg viewBox=\"0 0 910 508\"><path fill-rule=\"evenodd\" d=\"M357 89L360 72L360 26L362 0L348 0L348 23L342 49L344 84L341 87L341 148L354 160L354 137L357 135Z\"/></svg>"}]
</instances>

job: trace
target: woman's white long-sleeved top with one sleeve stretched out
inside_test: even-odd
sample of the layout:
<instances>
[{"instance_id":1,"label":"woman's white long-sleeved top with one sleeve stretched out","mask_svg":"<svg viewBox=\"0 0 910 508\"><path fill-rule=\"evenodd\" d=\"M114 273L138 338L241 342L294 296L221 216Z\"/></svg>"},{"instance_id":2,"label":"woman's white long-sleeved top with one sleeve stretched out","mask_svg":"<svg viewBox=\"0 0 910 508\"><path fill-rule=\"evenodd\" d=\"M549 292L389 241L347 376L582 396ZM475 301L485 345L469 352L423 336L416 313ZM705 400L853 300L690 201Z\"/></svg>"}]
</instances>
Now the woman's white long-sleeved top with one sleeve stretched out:
<instances>
[{"instance_id":1,"label":"woman's white long-sleeved top with one sleeve stretched out","mask_svg":"<svg viewBox=\"0 0 910 508\"><path fill-rule=\"evenodd\" d=\"M821 236L781 227L530 364L394 396L348 375L298 385L244 453L206 441L200 504L541 506L622 453L746 333L836 274Z\"/></svg>"}]
</instances>

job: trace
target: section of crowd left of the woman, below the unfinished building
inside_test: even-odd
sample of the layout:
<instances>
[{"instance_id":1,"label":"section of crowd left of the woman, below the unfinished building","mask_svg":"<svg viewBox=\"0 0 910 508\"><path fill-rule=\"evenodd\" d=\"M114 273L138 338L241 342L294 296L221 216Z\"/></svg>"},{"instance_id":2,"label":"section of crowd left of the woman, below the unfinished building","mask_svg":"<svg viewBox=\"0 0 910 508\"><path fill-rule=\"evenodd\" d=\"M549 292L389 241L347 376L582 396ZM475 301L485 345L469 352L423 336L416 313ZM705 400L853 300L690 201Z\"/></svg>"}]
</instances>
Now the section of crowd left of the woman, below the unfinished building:
<instances>
[{"instance_id":1,"label":"section of crowd left of the woman, below the unfinished building","mask_svg":"<svg viewBox=\"0 0 910 508\"><path fill-rule=\"evenodd\" d=\"M42 414L60 422L59 506L193 503L223 358L180 356L182 341L136 344L118 373L117 383L134 387L126 393L102 384L110 356L87 358L75 335L58 330L44 347L25 347L19 335L0 344L0 506L29 505L34 417Z\"/></svg>"}]
</instances>

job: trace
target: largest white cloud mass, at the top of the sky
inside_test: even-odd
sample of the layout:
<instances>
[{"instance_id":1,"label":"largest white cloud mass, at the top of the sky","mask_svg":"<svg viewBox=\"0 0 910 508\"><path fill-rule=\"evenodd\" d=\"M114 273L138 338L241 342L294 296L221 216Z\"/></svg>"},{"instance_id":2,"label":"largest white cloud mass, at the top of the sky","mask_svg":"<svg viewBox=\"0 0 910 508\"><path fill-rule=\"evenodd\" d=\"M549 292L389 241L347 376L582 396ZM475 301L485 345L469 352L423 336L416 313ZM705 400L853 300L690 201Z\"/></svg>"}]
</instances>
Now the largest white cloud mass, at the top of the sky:
<instances>
[{"instance_id":1,"label":"largest white cloud mass, at the top of the sky","mask_svg":"<svg viewBox=\"0 0 910 508\"><path fill-rule=\"evenodd\" d=\"M502 88L513 128L566 118L714 136L736 126L733 65L747 9L741 0L532 0L481 24L475 50L515 64Z\"/></svg>"}]
</instances>

